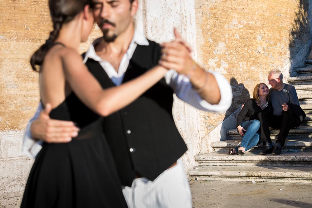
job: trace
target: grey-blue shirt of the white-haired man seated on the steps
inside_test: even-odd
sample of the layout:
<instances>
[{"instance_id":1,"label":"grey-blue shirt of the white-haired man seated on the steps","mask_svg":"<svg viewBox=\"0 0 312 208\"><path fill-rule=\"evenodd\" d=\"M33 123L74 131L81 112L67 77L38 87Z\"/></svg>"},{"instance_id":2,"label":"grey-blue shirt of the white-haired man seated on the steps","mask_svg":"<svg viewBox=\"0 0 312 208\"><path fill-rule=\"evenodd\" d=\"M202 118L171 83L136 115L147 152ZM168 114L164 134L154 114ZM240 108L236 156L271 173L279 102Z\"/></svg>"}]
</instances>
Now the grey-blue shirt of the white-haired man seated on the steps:
<instances>
[{"instance_id":1,"label":"grey-blue shirt of the white-haired man seated on the steps","mask_svg":"<svg viewBox=\"0 0 312 208\"><path fill-rule=\"evenodd\" d=\"M285 84L284 88L280 91L277 89L270 89L271 103L273 106L273 114L280 115L283 107L282 104L290 102L299 105L298 95L296 89L292 85Z\"/></svg>"}]
</instances>

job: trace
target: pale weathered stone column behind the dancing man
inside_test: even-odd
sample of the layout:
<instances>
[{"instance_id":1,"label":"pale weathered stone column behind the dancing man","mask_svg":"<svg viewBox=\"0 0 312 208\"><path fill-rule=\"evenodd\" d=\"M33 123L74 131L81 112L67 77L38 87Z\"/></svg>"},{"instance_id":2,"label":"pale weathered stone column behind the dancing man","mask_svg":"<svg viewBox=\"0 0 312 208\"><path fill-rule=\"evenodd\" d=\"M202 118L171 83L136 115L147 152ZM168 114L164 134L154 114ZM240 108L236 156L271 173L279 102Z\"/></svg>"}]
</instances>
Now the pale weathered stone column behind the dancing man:
<instances>
[{"instance_id":1,"label":"pale weathered stone column behind the dancing man","mask_svg":"<svg viewBox=\"0 0 312 208\"><path fill-rule=\"evenodd\" d=\"M196 60L194 0L141 0L135 25L136 29L148 39L158 43L173 40L173 28L176 27L182 38L193 47L193 58ZM175 97L173 117L180 134L188 145L188 152L182 157L184 167L188 172L197 165L194 156L200 149L199 110Z\"/></svg>"}]
</instances>

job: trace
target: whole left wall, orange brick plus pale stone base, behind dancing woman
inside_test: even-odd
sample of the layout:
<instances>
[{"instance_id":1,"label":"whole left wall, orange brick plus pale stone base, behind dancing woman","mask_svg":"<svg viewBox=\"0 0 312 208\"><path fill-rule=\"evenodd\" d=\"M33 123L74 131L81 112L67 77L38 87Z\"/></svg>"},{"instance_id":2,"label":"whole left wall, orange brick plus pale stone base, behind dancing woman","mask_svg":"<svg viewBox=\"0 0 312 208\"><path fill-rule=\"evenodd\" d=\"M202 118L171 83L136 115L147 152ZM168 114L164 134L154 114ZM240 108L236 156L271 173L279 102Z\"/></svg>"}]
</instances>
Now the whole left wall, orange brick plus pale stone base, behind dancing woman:
<instances>
[{"instance_id":1,"label":"whole left wall, orange brick plus pale stone base, behind dancing woman","mask_svg":"<svg viewBox=\"0 0 312 208\"><path fill-rule=\"evenodd\" d=\"M19 207L33 163L21 154L22 135L40 99L29 59L52 29L47 2L0 1L0 207ZM96 28L80 53L100 36Z\"/></svg>"}]
</instances>

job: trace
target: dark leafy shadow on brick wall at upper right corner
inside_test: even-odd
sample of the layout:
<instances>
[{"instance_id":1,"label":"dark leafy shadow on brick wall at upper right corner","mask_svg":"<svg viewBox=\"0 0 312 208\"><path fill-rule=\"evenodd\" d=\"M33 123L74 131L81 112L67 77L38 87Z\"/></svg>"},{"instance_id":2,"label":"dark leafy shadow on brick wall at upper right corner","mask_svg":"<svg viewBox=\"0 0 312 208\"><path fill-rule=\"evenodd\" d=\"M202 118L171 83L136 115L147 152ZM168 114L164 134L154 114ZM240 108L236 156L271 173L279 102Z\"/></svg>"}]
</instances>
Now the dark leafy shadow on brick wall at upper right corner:
<instances>
[{"instance_id":1,"label":"dark leafy shadow on brick wall at upper right corner","mask_svg":"<svg viewBox=\"0 0 312 208\"><path fill-rule=\"evenodd\" d=\"M299 0L295 19L289 32L289 51L290 60L292 60L298 52L310 41L310 1ZM310 51L309 51L310 52ZM309 53L308 52L308 53ZM308 54L304 54L304 59ZM303 66L302 63L301 66ZM289 75L295 71L297 66L290 66Z\"/></svg>"}]
</instances>

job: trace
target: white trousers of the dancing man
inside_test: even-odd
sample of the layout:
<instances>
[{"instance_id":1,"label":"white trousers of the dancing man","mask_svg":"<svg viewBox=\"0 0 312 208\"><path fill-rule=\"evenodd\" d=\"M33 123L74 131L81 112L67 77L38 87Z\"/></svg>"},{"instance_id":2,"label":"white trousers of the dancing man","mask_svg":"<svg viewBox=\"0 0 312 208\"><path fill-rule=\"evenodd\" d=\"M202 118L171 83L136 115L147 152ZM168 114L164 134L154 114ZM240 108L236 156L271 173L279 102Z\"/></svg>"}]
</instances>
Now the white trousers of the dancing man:
<instances>
[{"instance_id":1,"label":"white trousers of the dancing man","mask_svg":"<svg viewBox=\"0 0 312 208\"><path fill-rule=\"evenodd\" d=\"M192 197L181 159L154 181L136 178L123 187L129 208L191 208Z\"/></svg>"}]
</instances>

